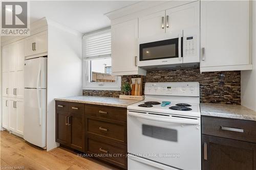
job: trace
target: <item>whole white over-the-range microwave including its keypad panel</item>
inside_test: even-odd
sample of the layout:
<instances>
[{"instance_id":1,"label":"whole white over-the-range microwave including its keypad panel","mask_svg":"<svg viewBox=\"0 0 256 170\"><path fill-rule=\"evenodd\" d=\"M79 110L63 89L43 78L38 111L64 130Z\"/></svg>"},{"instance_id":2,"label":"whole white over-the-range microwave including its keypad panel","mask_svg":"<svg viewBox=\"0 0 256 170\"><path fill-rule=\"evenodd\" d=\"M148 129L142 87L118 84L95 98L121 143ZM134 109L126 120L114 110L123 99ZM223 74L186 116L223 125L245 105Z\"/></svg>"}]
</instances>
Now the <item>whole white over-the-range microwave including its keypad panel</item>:
<instances>
[{"instance_id":1,"label":"whole white over-the-range microwave including its keypad panel","mask_svg":"<svg viewBox=\"0 0 256 170\"><path fill-rule=\"evenodd\" d=\"M140 67L200 62L200 30L190 28L139 39Z\"/></svg>"}]
</instances>

